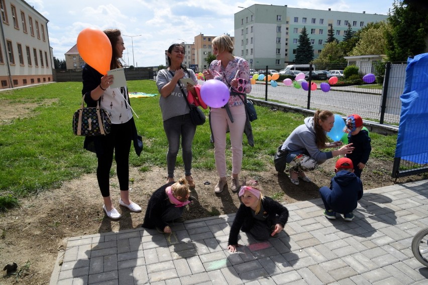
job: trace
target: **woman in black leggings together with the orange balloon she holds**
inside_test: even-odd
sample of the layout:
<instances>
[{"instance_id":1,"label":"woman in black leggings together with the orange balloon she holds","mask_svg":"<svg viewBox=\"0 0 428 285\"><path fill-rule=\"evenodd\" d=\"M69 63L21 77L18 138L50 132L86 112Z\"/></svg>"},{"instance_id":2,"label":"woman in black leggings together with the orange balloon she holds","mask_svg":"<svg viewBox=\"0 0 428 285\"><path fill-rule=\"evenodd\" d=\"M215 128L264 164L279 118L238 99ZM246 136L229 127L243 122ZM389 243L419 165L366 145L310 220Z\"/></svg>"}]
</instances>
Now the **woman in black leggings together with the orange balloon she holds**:
<instances>
[{"instance_id":1,"label":"woman in black leggings together with the orange balloon she holds","mask_svg":"<svg viewBox=\"0 0 428 285\"><path fill-rule=\"evenodd\" d=\"M85 29L77 38L77 46L83 60L96 66L94 68L86 64L83 68L84 100L89 107L95 107L99 102L100 107L109 112L112 121L109 134L86 136L84 148L96 153L98 160L96 178L104 200L102 208L109 218L117 220L121 218L121 214L113 206L110 197L110 169L113 157L117 164L116 171L121 190L119 204L131 212L141 212L141 207L129 199L129 153L131 141L134 141L137 155L140 155L143 143L141 136L137 134L127 86L111 88L114 77L105 74L110 69L122 67L119 58L123 56L125 44L119 30L101 32ZM100 54L104 57L100 57ZM107 67L105 63L108 64Z\"/></svg>"}]
</instances>

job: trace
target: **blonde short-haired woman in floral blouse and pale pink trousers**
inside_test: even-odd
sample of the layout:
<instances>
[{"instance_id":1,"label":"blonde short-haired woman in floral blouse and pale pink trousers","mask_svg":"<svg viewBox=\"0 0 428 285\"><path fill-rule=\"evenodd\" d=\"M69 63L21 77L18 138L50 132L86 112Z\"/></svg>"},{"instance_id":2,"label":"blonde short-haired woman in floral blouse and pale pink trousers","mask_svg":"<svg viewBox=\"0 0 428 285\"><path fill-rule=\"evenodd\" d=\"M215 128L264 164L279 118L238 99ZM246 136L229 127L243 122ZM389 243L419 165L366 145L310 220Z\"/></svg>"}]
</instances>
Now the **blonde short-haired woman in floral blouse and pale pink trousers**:
<instances>
[{"instance_id":1,"label":"blonde short-haired woman in floral blouse and pale pink trousers","mask_svg":"<svg viewBox=\"0 0 428 285\"><path fill-rule=\"evenodd\" d=\"M228 35L213 39L212 47L217 59L211 62L208 70L203 71L203 75L206 80L222 81L232 90L226 106L211 107L209 110L214 157L220 178L219 183L214 187L214 192L221 193L228 185L226 179L226 131L228 128L232 145L231 190L237 192L239 190L238 175L242 167L242 136L247 121L242 97L245 98L246 93L251 92L250 67L245 59L232 54L234 44Z\"/></svg>"}]
</instances>

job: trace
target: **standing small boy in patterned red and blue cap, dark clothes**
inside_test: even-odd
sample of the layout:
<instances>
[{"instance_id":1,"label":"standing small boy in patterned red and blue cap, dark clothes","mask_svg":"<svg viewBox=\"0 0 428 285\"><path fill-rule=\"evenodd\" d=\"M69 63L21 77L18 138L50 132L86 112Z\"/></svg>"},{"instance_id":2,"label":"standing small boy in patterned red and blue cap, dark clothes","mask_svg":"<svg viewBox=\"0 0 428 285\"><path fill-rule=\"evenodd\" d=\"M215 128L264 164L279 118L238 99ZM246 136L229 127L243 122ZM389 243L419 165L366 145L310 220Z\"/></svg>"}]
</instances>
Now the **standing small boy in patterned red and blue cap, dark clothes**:
<instances>
[{"instance_id":1,"label":"standing small boy in patterned red and blue cap, dark clothes","mask_svg":"<svg viewBox=\"0 0 428 285\"><path fill-rule=\"evenodd\" d=\"M361 177L361 172L366 167L372 151L369 133L363 129L363 119L357 114L352 114L346 118L343 131L348 133L348 144L352 143L354 147L354 151L347 154L346 157L352 160L355 175Z\"/></svg>"}]
</instances>

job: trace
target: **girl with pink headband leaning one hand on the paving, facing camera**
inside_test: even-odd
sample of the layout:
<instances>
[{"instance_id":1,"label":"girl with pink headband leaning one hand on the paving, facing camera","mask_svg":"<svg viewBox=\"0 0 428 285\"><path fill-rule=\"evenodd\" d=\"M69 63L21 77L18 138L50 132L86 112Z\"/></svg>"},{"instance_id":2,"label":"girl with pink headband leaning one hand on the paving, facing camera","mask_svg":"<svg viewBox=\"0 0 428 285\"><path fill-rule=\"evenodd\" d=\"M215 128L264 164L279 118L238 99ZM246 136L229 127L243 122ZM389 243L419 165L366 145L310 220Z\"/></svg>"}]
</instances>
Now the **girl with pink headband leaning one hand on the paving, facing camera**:
<instances>
[{"instance_id":1,"label":"girl with pink headband leaning one hand on the paving, facing camera","mask_svg":"<svg viewBox=\"0 0 428 285\"><path fill-rule=\"evenodd\" d=\"M263 196L257 180L248 180L239 191L241 205L229 234L228 249L235 252L239 231L251 233L257 240L267 240L282 231L288 210L270 197Z\"/></svg>"}]
</instances>

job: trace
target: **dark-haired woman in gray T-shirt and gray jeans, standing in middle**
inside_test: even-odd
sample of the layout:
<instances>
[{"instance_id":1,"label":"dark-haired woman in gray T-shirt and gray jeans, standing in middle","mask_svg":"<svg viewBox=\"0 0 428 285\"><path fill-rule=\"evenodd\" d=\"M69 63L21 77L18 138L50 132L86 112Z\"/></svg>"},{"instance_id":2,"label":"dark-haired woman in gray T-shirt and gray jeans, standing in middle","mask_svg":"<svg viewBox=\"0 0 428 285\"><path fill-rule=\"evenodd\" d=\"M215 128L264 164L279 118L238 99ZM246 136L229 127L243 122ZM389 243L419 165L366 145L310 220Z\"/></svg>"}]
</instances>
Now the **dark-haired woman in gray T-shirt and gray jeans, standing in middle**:
<instances>
[{"instance_id":1,"label":"dark-haired woman in gray T-shirt and gray jeans, standing in middle","mask_svg":"<svg viewBox=\"0 0 428 285\"><path fill-rule=\"evenodd\" d=\"M197 79L193 70L182 65L185 57L184 45L171 45L168 48L167 56L169 67L160 70L156 76L156 84L161 94L159 106L162 111L163 128L168 139L168 152L166 154L168 178L166 183L174 181L175 163L181 137L184 174L189 188L194 188L191 170L192 144L196 125L192 123L190 118L190 109L187 106L185 96L187 96L188 91L192 92L194 96L197 95L192 85L184 85L179 80L190 78L194 84L197 84Z\"/></svg>"}]
</instances>

